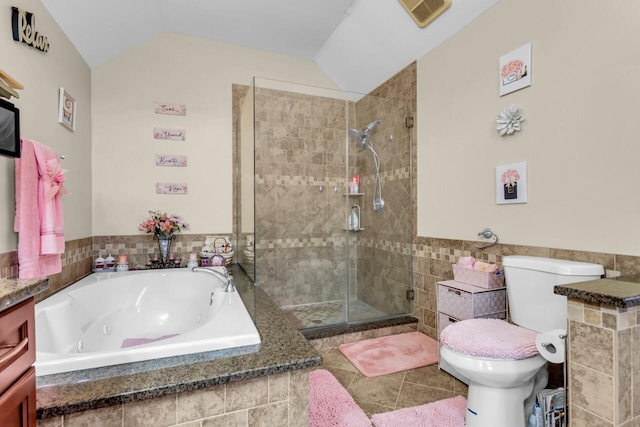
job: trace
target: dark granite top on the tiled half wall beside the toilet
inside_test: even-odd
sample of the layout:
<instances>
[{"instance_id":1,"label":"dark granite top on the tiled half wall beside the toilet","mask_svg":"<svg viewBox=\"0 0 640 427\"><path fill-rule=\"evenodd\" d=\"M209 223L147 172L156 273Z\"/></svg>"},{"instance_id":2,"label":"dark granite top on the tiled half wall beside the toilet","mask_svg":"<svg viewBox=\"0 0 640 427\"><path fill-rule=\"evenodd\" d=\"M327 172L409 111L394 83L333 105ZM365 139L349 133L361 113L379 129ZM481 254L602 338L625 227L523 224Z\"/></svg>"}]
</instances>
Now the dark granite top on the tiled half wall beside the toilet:
<instances>
[{"instance_id":1,"label":"dark granite top on the tiled half wall beside the toilet","mask_svg":"<svg viewBox=\"0 0 640 427\"><path fill-rule=\"evenodd\" d=\"M554 287L554 293L615 307L640 305L640 275L590 280Z\"/></svg>"}]
</instances>

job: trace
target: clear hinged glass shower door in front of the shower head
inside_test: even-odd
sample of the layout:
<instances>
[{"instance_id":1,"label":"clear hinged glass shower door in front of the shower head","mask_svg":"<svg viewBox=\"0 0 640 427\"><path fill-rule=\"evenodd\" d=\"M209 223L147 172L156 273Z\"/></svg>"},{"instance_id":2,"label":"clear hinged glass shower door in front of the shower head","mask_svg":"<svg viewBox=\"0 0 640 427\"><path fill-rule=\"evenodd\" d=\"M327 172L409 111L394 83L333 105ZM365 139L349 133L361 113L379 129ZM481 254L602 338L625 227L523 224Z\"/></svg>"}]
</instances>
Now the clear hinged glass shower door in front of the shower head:
<instances>
[{"instance_id":1,"label":"clear hinged glass shower door in front of the shower head","mask_svg":"<svg viewBox=\"0 0 640 427\"><path fill-rule=\"evenodd\" d=\"M349 94L347 181L360 212L349 231L349 322L406 316L412 312L412 104L402 99ZM353 185L353 184L352 184ZM357 206L357 208L353 208Z\"/></svg>"}]
</instances>

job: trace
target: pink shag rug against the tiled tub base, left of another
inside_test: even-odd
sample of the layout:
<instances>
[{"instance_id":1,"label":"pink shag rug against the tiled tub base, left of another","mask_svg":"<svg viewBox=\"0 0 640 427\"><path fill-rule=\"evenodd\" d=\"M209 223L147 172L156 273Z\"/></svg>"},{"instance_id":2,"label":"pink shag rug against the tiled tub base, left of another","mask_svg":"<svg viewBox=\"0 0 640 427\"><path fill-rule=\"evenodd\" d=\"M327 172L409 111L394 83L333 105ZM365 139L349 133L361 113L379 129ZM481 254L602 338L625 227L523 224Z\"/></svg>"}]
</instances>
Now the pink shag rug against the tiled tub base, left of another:
<instances>
[{"instance_id":1,"label":"pink shag rug against the tiled tub base, left of another","mask_svg":"<svg viewBox=\"0 0 640 427\"><path fill-rule=\"evenodd\" d=\"M371 421L331 372L309 374L310 427L371 427Z\"/></svg>"}]
</instances>

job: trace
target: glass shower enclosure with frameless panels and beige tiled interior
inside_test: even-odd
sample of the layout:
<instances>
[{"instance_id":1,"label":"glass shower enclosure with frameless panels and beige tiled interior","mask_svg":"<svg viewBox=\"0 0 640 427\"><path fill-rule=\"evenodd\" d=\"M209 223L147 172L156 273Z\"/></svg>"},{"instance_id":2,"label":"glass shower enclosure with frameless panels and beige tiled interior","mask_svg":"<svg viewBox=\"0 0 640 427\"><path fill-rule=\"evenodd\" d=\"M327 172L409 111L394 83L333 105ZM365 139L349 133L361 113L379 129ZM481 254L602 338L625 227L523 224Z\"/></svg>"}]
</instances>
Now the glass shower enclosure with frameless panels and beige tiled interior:
<instances>
[{"instance_id":1,"label":"glass shower enclosure with frameless panels and beige tiled interior","mask_svg":"<svg viewBox=\"0 0 640 427\"><path fill-rule=\"evenodd\" d=\"M238 262L297 328L411 314L412 107L263 78L247 89Z\"/></svg>"}]
</instances>

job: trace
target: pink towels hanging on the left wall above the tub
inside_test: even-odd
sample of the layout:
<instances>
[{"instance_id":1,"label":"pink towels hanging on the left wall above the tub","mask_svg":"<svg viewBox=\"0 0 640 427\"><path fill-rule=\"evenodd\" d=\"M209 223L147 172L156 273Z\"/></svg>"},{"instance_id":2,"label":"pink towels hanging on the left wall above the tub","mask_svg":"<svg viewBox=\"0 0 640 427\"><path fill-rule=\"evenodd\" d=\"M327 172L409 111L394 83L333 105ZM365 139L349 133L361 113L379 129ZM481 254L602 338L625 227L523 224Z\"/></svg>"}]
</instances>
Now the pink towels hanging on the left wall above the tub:
<instances>
[{"instance_id":1,"label":"pink towels hanging on the left wall above the tub","mask_svg":"<svg viewBox=\"0 0 640 427\"><path fill-rule=\"evenodd\" d=\"M21 279L50 276L62 271L64 220L61 197L65 170L51 148L20 139L16 162L16 215L18 264Z\"/></svg>"}]
</instances>

